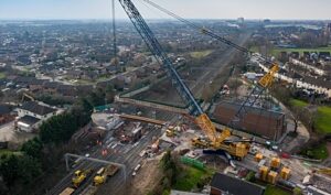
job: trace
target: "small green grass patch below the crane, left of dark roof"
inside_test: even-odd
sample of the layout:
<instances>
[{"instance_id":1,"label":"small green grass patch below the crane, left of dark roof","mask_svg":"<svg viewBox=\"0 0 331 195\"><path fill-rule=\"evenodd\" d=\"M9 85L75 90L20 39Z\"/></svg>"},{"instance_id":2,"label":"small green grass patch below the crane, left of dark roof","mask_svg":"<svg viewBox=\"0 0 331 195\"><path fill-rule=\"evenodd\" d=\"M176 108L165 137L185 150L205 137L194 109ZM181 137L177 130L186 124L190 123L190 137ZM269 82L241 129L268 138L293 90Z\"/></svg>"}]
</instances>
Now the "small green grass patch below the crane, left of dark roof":
<instances>
[{"instance_id":1,"label":"small green grass patch below the crane, left of dark roof","mask_svg":"<svg viewBox=\"0 0 331 195\"><path fill-rule=\"evenodd\" d=\"M201 180L210 175L212 175L211 172L186 166L177 178L177 183L173 188L178 191L191 191Z\"/></svg>"}]
</instances>

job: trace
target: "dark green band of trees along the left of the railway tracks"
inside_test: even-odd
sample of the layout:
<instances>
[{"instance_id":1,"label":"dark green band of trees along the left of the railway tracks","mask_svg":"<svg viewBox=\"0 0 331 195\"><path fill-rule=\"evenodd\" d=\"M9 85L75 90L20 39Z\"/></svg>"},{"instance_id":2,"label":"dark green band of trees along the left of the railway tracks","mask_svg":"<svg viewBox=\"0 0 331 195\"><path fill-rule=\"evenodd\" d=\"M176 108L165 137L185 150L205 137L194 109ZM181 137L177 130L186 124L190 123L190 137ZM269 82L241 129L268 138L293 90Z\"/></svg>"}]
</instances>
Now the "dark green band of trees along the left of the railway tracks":
<instances>
[{"instance_id":1,"label":"dark green band of trees along the left of the railway tracks","mask_svg":"<svg viewBox=\"0 0 331 195\"><path fill-rule=\"evenodd\" d=\"M0 156L0 175L4 184L0 182L0 195L14 194L18 187L29 186L50 169L50 164L55 165L54 161L58 159L53 158L56 156L53 151L67 143L77 130L90 121L93 105L88 99L82 98L71 110L44 121L39 136L23 143L20 151Z\"/></svg>"}]
</instances>

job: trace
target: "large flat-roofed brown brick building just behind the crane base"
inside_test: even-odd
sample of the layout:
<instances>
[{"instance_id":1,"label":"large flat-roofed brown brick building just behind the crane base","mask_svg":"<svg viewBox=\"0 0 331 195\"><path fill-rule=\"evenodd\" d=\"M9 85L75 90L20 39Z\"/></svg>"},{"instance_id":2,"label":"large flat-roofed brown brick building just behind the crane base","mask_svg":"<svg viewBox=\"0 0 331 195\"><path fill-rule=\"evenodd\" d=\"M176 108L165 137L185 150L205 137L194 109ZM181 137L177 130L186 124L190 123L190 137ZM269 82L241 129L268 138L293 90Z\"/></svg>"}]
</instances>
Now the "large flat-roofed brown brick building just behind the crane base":
<instances>
[{"instance_id":1,"label":"large flat-roofed brown brick building just behind the crane base","mask_svg":"<svg viewBox=\"0 0 331 195\"><path fill-rule=\"evenodd\" d=\"M241 108L239 104L223 101L215 106L213 117L217 122L228 124ZM256 107L245 107L246 113L235 122L235 128L277 141L286 132L285 115Z\"/></svg>"}]
</instances>

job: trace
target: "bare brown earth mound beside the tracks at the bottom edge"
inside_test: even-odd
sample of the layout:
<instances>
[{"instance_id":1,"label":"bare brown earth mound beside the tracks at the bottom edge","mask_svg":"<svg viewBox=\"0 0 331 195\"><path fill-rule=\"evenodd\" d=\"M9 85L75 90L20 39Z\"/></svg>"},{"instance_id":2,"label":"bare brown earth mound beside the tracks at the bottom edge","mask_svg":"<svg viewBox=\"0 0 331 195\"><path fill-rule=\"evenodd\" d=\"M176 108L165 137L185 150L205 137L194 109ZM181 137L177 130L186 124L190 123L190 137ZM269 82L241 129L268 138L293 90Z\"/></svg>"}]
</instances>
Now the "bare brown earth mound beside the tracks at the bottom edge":
<instances>
[{"instance_id":1,"label":"bare brown earth mound beside the tracks at the bottom edge","mask_svg":"<svg viewBox=\"0 0 331 195\"><path fill-rule=\"evenodd\" d=\"M159 169L159 160L146 161L136 177L131 180L131 187L128 195L146 195L152 191L162 178L162 173Z\"/></svg>"}]
</instances>

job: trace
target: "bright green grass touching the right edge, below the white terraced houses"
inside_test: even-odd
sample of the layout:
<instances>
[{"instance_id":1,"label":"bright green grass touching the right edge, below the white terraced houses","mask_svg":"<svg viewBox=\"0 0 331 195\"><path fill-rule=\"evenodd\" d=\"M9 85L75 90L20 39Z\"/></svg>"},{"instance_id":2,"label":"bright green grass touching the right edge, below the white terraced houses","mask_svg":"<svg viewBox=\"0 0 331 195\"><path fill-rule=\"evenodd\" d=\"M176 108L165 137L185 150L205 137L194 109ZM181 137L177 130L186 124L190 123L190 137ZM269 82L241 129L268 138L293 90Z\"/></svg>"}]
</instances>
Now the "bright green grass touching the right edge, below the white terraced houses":
<instances>
[{"instance_id":1,"label":"bright green grass touching the right edge, below the white terraced houses","mask_svg":"<svg viewBox=\"0 0 331 195\"><path fill-rule=\"evenodd\" d=\"M321 133L331 133L331 107L319 107L316 127Z\"/></svg>"}]
</instances>

